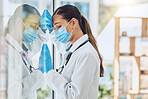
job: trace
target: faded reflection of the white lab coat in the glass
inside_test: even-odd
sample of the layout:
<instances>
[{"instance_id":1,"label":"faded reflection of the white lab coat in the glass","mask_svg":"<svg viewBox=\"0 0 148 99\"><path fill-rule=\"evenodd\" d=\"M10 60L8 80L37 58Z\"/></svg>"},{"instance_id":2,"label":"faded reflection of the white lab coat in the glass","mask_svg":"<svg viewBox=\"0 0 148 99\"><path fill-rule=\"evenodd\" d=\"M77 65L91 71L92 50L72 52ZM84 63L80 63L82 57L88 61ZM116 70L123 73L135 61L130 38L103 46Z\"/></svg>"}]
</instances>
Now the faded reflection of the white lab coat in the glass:
<instances>
[{"instance_id":1,"label":"faded reflection of the white lab coat in the glass","mask_svg":"<svg viewBox=\"0 0 148 99\"><path fill-rule=\"evenodd\" d=\"M21 46L10 34L6 39L8 42L8 99L37 99L36 90L45 83L42 72L35 70L30 73L22 60ZM32 47L36 49L34 51L39 50L41 43L41 39L36 39Z\"/></svg>"}]
</instances>

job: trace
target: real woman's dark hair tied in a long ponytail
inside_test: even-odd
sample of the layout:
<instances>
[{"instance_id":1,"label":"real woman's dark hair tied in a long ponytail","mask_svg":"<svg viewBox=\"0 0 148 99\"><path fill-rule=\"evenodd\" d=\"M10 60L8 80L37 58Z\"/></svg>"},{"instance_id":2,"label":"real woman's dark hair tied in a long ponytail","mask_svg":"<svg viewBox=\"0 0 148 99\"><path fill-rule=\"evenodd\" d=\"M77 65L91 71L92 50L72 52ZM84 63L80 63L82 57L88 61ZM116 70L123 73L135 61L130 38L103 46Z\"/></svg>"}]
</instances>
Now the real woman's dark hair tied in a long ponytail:
<instances>
[{"instance_id":1,"label":"real woman's dark hair tied in a long ponytail","mask_svg":"<svg viewBox=\"0 0 148 99\"><path fill-rule=\"evenodd\" d=\"M83 15L81 15L78 8L73 6L73 5L64 5L64 6L59 7L58 9L56 9L53 16L56 15L56 14L62 15L63 19L66 19L67 21L70 21L72 18L76 18L78 20L82 32L84 34L88 35L90 43L96 49L96 51L99 55L99 58L100 58L100 77L103 77L104 76L104 68L103 68L103 63L102 63L103 59L102 59L102 57L99 53L96 39L94 38L94 36L92 34L91 28L90 28L89 23L86 20L86 18Z\"/></svg>"}]
</instances>

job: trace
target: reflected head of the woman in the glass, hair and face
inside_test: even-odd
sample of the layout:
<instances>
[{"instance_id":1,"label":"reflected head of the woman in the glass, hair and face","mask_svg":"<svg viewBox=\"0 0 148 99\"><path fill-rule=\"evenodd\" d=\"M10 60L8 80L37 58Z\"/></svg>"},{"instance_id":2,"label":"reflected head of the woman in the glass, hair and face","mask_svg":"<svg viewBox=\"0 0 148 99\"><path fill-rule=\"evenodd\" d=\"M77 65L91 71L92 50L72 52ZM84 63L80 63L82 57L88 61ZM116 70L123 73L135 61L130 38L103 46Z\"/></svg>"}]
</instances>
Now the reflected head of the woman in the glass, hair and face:
<instances>
[{"instance_id":1,"label":"reflected head of the woman in the glass, hair and face","mask_svg":"<svg viewBox=\"0 0 148 99\"><path fill-rule=\"evenodd\" d=\"M39 19L40 13L35 7L28 4L21 5L16 8L14 14L9 19L6 35L8 33L11 34L19 44L22 44L23 33L29 35L37 34L36 31L39 28Z\"/></svg>"}]
</instances>

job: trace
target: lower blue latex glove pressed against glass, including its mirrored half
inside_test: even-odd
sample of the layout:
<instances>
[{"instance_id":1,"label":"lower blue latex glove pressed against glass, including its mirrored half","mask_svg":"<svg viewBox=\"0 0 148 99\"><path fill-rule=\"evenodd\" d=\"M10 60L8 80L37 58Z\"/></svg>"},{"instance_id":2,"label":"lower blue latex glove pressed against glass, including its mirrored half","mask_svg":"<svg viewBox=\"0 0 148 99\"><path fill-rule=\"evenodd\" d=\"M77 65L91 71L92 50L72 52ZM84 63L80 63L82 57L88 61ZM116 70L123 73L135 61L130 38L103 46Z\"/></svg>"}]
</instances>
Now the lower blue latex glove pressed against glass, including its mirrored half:
<instances>
[{"instance_id":1,"label":"lower blue latex glove pressed against glass, including its mirrored half","mask_svg":"<svg viewBox=\"0 0 148 99\"><path fill-rule=\"evenodd\" d=\"M50 55L50 51L48 49L47 44L43 44L42 46L42 51L40 54L40 58L39 58L39 67L38 69L44 73L44 72L48 72L50 70L52 70L52 60L51 60L51 55Z\"/></svg>"}]
</instances>

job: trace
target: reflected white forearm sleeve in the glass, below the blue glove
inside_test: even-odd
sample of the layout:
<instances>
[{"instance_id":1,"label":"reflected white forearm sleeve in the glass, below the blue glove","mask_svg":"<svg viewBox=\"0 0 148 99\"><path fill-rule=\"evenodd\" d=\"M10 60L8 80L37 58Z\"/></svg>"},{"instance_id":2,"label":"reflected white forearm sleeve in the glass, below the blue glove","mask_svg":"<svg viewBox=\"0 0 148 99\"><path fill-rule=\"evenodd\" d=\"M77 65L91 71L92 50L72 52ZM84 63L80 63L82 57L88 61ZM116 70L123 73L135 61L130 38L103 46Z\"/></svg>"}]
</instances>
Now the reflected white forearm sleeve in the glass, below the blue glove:
<instances>
[{"instance_id":1,"label":"reflected white forearm sleeve in the glass, below the blue glove","mask_svg":"<svg viewBox=\"0 0 148 99\"><path fill-rule=\"evenodd\" d=\"M30 96L33 92L39 89L45 83L45 78L42 72L36 70L26 76L22 80L22 96L23 99L27 96Z\"/></svg>"}]
</instances>

